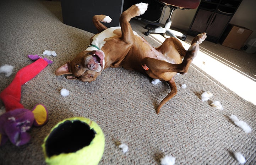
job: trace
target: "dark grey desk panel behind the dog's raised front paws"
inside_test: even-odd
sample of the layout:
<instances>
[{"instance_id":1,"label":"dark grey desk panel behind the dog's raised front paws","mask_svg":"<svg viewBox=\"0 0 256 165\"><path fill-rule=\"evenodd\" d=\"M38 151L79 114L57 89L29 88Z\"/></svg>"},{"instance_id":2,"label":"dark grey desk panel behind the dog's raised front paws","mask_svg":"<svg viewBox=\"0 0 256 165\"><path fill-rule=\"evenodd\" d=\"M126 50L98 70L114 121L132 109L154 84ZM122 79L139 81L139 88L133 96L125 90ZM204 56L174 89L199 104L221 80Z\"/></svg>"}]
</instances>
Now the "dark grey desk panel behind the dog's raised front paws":
<instances>
[{"instance_id":1,"label":"dark grey desk panel behind the dog's raised front paws","mask_svg":"<svg viewBox=\"0 0 256 165\"><path fill-rule=\"evenodd\" d=\"M105 26L119 26L123 3L124 0L61 0L63 23L91 33L98 33L92 17L100 14L107 15L112 18L112 22L105 23Z\"/></svg>"}]
</instances>

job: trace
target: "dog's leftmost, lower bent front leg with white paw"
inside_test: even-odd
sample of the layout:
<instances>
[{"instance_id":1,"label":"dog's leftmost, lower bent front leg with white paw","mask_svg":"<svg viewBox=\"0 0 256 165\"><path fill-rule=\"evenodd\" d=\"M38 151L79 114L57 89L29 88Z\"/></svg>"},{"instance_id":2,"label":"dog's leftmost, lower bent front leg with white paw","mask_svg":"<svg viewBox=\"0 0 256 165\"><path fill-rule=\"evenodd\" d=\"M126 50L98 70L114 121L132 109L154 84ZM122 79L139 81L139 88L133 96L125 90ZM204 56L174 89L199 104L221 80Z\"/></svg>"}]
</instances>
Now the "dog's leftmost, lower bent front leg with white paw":
<instances>
[{"instance_id":1,"label":"dog's leftmost, lower bent front leg with white paw","mask_svg":"<svg viewBox=\"0 0 256 165\"><path fill-rule=\"evenodd\" d=\"M111 21L112 19L109 16L105 15L95 15L92 17L92 22L99 33L107 29L107 27L101 22L110 23Z\"/></svg>"}]
</instances>

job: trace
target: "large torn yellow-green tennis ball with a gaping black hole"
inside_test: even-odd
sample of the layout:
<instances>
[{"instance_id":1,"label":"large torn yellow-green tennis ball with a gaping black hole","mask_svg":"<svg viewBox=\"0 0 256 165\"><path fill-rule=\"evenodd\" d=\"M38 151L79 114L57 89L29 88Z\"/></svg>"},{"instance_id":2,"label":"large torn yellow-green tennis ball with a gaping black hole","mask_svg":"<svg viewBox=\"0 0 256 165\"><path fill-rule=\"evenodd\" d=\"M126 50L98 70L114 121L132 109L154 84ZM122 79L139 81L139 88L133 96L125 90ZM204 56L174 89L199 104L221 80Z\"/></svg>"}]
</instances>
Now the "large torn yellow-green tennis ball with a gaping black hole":
<instances>
[{"instance_id":1,"label":"large torn yellow-green tennis ball with a gaping black hole","mask_svg":"<svg viewBox=\"0 0 256 165\"><path fill-rule=\"evenodd\" d=\"M54 126L42 145L49 165L97 165L105 138L101 128L85 117L73 117Z\"/></svg>"}]
</instances>

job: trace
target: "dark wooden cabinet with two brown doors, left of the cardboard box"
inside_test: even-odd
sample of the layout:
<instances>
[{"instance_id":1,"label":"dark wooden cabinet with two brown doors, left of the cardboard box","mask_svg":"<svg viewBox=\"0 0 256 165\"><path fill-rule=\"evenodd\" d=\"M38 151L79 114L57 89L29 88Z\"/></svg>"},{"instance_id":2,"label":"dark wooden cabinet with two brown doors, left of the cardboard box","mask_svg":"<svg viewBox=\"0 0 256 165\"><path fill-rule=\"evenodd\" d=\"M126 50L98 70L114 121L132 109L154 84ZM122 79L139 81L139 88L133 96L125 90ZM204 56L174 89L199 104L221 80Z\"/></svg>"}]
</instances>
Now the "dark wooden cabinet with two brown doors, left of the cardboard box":
<instances>
[{"instance_id":1,"label":"dark wooden cabinet with two brown doors, left of the cardboard box","mask_svg":"<svg viewBox=\"0 0 256 165\"><path fill-rule=\"evenodd\" d=\"M206 32L217 43L242 0L202 0L187 34Z\"/></svg>"}]
</instances>

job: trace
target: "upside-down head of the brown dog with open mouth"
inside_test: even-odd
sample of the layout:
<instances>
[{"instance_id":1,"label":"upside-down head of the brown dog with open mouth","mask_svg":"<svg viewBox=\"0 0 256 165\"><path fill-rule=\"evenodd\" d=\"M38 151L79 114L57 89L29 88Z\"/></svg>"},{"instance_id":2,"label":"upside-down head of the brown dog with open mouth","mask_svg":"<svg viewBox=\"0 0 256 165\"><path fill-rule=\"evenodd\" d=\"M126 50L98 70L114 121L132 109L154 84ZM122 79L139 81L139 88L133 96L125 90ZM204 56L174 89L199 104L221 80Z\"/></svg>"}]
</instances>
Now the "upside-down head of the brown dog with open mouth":
<instances>
[{"instance_id":1,"label":"upside-down head of the brown dog with open mouth","mask_svg":"<svg viewBox=\"0 0 256 165\"><path fill-rule=\"evenodd\" d=\"M55 75L67 75L67 79L79 79L92 82L100 75L104 68L104 53L101 50L82 51L75 59L62 65L55 71Z\"/></svg>"}]
</instances>

